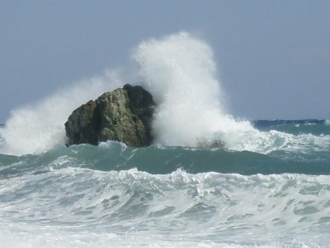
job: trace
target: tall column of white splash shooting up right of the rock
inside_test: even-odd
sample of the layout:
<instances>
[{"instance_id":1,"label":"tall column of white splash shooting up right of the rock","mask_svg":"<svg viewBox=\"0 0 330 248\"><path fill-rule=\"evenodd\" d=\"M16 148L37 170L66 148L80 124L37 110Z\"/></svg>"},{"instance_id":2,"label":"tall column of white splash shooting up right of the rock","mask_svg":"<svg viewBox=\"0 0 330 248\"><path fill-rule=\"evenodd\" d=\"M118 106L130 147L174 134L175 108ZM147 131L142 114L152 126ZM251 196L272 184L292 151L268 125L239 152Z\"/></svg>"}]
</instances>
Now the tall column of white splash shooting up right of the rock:
<instances>
[{"instance_id":1,"label":"tall column of white splash shooting up right of the rock","mask_svg":"<svg viewBox=\"0 0 330 248\"><path fill-rule=\"evenodd\" d=\"M142 42L133 59L144 87L159 105L153 128L157 143L198 146L241 142L256 132L248 121L225 114L212 49L187 32Z\"/></svg>"}]
</instances>

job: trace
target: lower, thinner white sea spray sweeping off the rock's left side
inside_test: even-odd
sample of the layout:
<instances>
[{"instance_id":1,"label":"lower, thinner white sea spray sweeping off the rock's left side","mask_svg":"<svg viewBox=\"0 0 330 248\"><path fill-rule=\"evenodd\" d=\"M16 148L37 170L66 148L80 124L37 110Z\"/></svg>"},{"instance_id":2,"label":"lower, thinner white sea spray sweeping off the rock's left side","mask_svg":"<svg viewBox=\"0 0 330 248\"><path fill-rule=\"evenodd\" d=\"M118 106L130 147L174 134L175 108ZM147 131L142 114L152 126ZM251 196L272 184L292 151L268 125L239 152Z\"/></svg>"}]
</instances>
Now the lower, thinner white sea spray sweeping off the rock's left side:
<instances>
[{"instance_id":1,"label":"lower, thinner white sea spray sweeping off the rock's left side","mask_svg":"<svg viewBox=\"0 0 330 248\"><path fill-rule=\"evenodd\" d=\"M111 82L111 83L110 83ZM64 123L76 107L103 92L120 87L122 82L116 72L80 81L34 105L11 112L5 127L0 129L3 145L1 154L34 154L65 144Z\"/></svg>"}]
</instances>

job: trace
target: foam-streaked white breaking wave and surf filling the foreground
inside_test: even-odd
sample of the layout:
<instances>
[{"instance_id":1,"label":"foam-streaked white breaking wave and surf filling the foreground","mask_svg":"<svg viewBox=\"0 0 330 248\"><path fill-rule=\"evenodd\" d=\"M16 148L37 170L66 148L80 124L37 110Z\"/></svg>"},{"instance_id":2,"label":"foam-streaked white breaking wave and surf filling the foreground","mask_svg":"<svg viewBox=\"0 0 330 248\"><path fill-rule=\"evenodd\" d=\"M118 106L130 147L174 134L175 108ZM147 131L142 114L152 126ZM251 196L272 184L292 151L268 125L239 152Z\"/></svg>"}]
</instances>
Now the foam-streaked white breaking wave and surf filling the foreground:
<instances>
[{"instance_id":1,"label":"foam-streaked white breaking wave and surf filling the foreground","mask_svg":"<svg viewBox=\"0 0 330 248\"><path fill-rule=\"evenodd\" d=\"M66 167L25 174L0 182L0 242L5 247L327 247L329 183L329 176L181 170L151 175Z\"/></svg>"}]
</instances>

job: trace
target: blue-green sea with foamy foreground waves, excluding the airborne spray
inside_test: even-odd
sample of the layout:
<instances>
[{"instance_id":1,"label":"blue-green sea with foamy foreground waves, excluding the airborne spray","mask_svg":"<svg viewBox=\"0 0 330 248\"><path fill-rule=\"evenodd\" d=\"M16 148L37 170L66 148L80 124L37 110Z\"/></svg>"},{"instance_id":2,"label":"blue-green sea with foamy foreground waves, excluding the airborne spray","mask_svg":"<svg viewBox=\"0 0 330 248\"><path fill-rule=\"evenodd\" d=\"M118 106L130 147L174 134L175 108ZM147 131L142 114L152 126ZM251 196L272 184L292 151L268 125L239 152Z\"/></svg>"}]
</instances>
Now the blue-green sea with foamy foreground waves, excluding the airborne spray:
<instances>
[{"instance_id":1,"label":"blue-green sea with foamy foreground waves, excluding the airborne spray","mask_svg":"<svg viewBox=\"0 0 330 248\"><path fill-rule=\"evenodd\" d=\"M329 247L330 126L318 120L253 125L287 136L299 149L283 142L259 153L109 141L1 154L0 241L7 247Z\"/></svg>"}]
</instances>

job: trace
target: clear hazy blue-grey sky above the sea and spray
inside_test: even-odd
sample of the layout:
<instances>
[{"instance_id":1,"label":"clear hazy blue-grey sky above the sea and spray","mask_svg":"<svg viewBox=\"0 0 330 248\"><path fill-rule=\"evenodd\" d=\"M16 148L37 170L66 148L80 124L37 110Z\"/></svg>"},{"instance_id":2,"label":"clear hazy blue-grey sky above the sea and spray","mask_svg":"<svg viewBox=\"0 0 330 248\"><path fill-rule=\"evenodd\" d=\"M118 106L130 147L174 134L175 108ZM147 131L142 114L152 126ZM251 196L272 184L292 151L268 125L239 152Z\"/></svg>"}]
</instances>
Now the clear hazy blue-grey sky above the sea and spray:
<instances>
[{"instance_id":1,"label":"clear hazy blue-grey sky above the sea and spray","mask_svg":"<svg viewBox=\"0 0 330 248\"><path fill-rule=\"evenodd\" d=\"M0 123L180 31L212 47L234 117L329 119L329 13L329 0L0 0Z\"/></svg>"}]
</instances>

